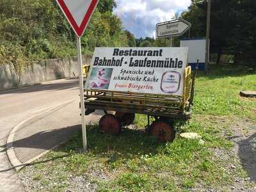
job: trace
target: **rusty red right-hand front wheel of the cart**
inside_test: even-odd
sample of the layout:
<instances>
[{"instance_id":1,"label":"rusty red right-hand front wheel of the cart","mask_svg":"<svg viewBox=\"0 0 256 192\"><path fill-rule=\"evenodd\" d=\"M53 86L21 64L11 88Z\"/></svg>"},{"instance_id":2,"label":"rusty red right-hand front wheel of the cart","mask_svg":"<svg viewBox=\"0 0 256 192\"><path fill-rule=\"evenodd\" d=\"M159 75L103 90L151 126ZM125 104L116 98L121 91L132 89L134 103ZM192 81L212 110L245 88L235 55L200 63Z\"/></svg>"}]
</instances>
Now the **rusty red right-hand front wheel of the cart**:
<instances>
[{"instance_id":1,"label":"rusty red right-hand front wheel of the cart","mask_svg":"<svg viewBox=\"0 0 256 192\"><path fill-rule=\"evenodd\" d=\"M149 132L151 135L156 136L159 142L172 142L175 138L174 128L161 120L153 122L149 127Z\"/></svg>"}]
</instances>

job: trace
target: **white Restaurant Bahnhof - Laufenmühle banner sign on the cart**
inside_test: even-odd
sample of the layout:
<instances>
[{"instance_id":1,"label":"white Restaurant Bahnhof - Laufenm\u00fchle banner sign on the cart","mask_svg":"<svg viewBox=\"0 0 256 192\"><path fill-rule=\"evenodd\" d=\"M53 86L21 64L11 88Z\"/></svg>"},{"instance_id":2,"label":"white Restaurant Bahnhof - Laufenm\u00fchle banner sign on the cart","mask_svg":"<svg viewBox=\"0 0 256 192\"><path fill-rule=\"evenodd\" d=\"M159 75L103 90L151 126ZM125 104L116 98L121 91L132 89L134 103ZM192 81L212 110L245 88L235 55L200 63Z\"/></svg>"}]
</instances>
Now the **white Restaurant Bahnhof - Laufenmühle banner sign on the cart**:
<instances>
[{"instance_id":1,"label":"white Restaurant Bahnhof - Laufenm\u00fchle banner sign on the cart","mask_svg":"<svg viewBox=\"0 0 256 192\"><path fill-rule=\"evenodd\" d=\"M187 65L187 47L98 47L85 89L181 96Z\"/></svg>"}]
</instances>

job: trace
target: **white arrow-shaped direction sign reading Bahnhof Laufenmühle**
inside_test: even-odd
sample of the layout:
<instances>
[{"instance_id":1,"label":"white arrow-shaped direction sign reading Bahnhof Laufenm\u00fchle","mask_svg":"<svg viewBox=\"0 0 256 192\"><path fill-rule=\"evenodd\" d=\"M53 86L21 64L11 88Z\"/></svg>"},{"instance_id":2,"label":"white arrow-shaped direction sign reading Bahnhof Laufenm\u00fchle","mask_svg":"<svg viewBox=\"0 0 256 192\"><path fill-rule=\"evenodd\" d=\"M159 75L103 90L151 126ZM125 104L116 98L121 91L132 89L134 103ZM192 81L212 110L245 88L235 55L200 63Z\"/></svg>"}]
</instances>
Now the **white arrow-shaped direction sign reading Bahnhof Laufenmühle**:
<instances>
[{"instance_id":1,"label":"white arrow-shaped direction sign reading Bahnhof Laufenm\u00fchle","mask_svg":"<svg viewBox=\"0 0 256 192\"><path fill-rule=\"evenodd\" d=\"M191 23L184 19L170 20L156 25L156 38L181 36L191 28Z\"/></svg>"}]
</instances>

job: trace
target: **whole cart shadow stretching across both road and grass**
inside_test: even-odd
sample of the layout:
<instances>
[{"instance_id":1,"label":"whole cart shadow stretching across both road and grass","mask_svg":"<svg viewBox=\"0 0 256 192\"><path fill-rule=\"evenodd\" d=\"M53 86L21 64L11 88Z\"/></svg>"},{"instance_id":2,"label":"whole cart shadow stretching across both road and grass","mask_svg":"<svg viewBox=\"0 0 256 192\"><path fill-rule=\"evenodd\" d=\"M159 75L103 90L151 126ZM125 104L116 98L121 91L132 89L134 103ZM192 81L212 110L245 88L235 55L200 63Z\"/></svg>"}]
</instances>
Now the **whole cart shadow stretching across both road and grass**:
<instances>
[{"instance_id":1,"label":"whole cart shadow stretching across both road and grass","mask_svg":"<svg viewBox=\"0 0 256 192\"><path fill-rule=\"evenodd\" d=\"M131 127L124 128L118 136L112 136L101 134L98 125L89 125L87 129L88 152L98 157L108 156L110 158L108 158L106 163L115 163L122 161L122 159L131 159L136 156L141 157L143 154L157 154L159 149L163 147L163 143L157 143L156 138L149 136L144 129L131 129ZM83 152L81 125L38 132L28 138L14 141L13 147L49 150L54 146L52 145L52 140L57 144L61 143L64 138L70 138L70 140L65 145L54 150L61 152L64 156L49 157L40 161L41 163ZM0 170L0 172L4 171L7 170Z\"/></svg>"}]
</instances>

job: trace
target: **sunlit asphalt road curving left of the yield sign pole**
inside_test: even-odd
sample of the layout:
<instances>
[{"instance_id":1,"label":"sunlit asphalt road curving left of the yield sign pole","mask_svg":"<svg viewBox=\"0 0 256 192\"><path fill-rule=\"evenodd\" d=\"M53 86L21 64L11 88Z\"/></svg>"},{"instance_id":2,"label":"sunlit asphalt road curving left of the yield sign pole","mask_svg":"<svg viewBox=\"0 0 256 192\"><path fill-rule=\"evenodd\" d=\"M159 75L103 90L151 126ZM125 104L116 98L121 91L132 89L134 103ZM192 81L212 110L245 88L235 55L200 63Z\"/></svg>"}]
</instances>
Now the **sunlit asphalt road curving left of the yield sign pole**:
<instances>
[{"instance_id":1,"label":"sunlit asphalt road curving left of the yield sign pole","mask_svg":"<svg viewBox=\"0 0 256 192\"><path fill-rule=\"evenodd\" d=\"M35 149L39 148L40 151L37 151L37 154L39 154L40 152L51 148L51 145L43 148L35 147L32 145L33 142L32 144L30 143L30 145L25 144L29 143L32 139L35 140L35 134L38 135L38 132L45 132L45 130L41 131L40 129L38 129L38 127L45 129L45 124L51 125L46 128L48 132L49 129L51 129L51 131L54 131L54 128L59 125L58 122L62 122L61 126L59 126L58 128L63 129L65 128L66 124L69 124L70 122L72 122L72 125L79 126L79 109L77 106L77 104L79 103L78 85L79 83L77 79L69 79L51 81L49 83L30 86L27 88L17 88L0 92L0 191L24 190L6 157L5 144L9 132L13 129L13 127L15 127L15 125L19 124L23 120L28 119L31 116L42 113L42 111L47 108L57 106L60 103L66 102L67 100L76 99L70 104L61 106L60 108L56 109L56 111L51 111L51 115L48 114L47 116L42 116L42 118L39 119L40 121L37 119L33 122L30 122L29 125L33 123L32 127L29 127L28 124L27 126L24 125L24 127L22 127L21 129L22 131L17 132L16 134L18 141L20 141L20 143L15 143L15 148L18 152L17 157L19 157L19 154L22 154L23 150L24 152L28 153L28 155L20 157L21 160L22 158L24 158L23 160L27 161L29 158L35 156ZM68 109L72 110L72 115L68 115ZM63 110L65 111L65 113L63 113L66 117L65 121L61 121L61 111ZM67 117L70 119L68 120ZM44 120L47 121L45 122ZM34 129L36 129L36 131ZM54 140L54 138L52 139ZM52 145L54 145L54 143L52 143ZM31 152L31 150L34 151Z\"/></svg>"}]
</instances>

